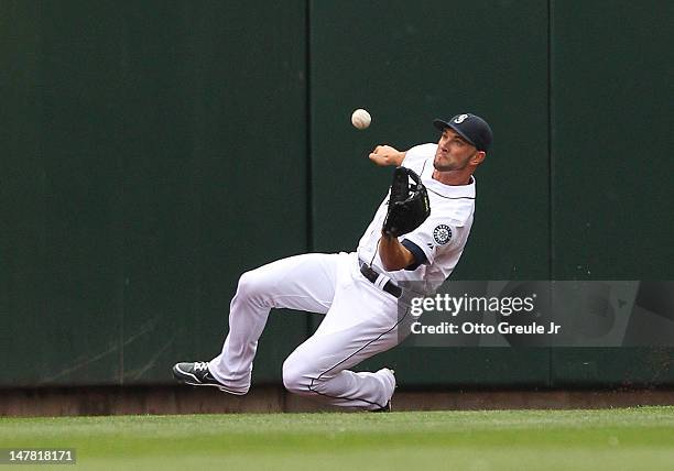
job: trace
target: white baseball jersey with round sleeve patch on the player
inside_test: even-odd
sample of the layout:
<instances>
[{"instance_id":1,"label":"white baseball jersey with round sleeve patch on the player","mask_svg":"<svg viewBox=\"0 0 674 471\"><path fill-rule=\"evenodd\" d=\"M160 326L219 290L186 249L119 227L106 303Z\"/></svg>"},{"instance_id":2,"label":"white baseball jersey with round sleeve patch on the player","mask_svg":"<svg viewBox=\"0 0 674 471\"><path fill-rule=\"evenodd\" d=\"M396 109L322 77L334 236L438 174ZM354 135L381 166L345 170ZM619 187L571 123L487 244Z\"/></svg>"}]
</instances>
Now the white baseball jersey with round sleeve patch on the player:
<instances>
[{"instance_id":1,"label":"white baseball jersey with round sleeve patch on the player","mask_svg":"<svg viewBox=\"0 0 674 471\"><path fill-rule=\"evenodd\" d=\"M358 256L380 273L396 282L422 282L420 291L434 293L452 274L458 263L470 233L475 213L475 178L468 185L445 185L433 179L433 160L437 144L421 144L410 149L402 163L404 167L416 172L428 191L431 216L414 231L398 238L412 252L421 249L425 261L418 266L411 266L394 272L387 272L378 252L381 227L387 217L390 190L377 213L358 242ZM407 242L405 242L405 240ZM417 256L418 260L418 256Z\"/></svg>"}]
</instances>

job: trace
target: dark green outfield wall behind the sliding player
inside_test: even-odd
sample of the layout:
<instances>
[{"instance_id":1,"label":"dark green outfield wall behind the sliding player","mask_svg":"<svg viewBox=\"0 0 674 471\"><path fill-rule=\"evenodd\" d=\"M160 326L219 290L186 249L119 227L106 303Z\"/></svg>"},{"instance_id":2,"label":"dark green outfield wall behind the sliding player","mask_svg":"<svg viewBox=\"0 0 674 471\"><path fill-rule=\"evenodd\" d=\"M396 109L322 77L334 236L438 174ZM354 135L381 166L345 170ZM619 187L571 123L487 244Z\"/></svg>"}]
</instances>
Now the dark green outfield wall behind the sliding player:
<instances>
[{"instance_id":1,"label":"dark green outfield wall behind the sliding player","mask_svg":"<svg viewBox=\"0 0 674 471\"><path fill-rule=\"evenodd\" d=\"M170 384L239 275L351 251L377 144L494 130L456 280L674 280L674 6L0 2L1 387ZM349 121L373 116L367 131ZM254 382L319 318L272 311ZM674 350L398 349L406 386L674 384Z\"/></svg>"}]
</instances>

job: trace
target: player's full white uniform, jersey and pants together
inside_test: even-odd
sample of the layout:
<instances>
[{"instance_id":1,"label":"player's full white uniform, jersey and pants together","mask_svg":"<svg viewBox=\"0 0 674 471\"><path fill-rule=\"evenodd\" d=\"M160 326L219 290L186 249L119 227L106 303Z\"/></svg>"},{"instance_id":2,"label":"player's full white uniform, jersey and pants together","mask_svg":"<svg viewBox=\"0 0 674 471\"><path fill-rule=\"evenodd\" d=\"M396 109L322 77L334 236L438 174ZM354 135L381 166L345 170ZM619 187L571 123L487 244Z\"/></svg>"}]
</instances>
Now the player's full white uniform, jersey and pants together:
<instances>
[{"instance_id":1,"label":"player's full white uniform, jersey and pants together","mask_svg":"<svg viewBox=\"0 0 674 471\"><path fill-rule=\"evenodd\" d=\"M399 298L382 288L389 281L415 282L421 286L415 291L432 294L456 266L472 224L475 179L463 186L433 179L436 149L437 144L417 145L403 161L403 166L421 176L431 200L428 219L399 238L423 262L415 269L383 270L378 241L387 216L387 196L356 252L291 256L241 276L230 305L229 335L221 353L208 365L229 392L248 392L258 339L269 311L289 308L325 314L316 332L283 363L283 383L289 391L350 408L387 405L395 387L389 370L349 370L395 347L409 333L398 331ZM379 273L376 282L361 274L362 262Z\"/></svg>"}]
</instances>

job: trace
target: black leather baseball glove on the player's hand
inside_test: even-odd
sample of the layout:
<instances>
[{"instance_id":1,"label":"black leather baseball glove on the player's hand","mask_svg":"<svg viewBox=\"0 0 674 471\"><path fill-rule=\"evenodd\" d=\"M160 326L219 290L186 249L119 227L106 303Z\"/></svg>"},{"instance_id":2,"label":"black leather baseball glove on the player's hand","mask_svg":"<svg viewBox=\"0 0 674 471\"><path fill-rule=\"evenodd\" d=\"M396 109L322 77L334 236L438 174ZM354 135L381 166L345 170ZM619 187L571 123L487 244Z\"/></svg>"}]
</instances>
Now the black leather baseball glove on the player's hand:
<instances>
[{"instance_id":1,"label":"black leather baseball glove on the player's hand","mask_svg":"<svg viewBox=\"0 0 674 471\"><path fill-rule=\"evenodd\" d=\"M410 185L410 178L414 182ZM393 172L389 211L383 224L388 237L400 237L412 232L431 215L431 202L426 187L415 172L396 167Z\"/></svg>"}]
</instances>

